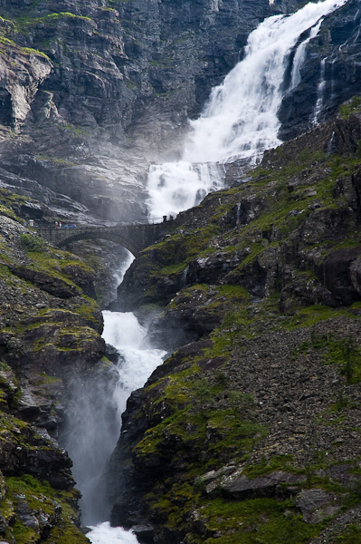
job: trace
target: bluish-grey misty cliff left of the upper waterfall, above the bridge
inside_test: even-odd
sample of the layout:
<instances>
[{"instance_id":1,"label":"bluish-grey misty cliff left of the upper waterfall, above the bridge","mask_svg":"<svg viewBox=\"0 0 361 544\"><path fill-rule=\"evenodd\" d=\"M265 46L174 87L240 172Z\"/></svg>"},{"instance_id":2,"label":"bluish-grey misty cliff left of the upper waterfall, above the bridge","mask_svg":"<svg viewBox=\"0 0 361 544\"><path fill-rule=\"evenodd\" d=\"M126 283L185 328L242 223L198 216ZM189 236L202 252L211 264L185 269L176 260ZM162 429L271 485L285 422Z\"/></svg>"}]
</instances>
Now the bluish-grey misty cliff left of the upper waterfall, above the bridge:
<instances>
[{"instance_id":1,"label":"bluish-grey misty cliff left of the upper waterfall, above the bridge","mask_svg":"<svg viewBox=\"0 0 361 544\"><path fill-rule=\"evenodd\" d=\"M6 181L53 216L141 219L147 160L172 152L170 131L176 141L268 14L266 0L2 2Z\"/></svg>"}]
</instances>

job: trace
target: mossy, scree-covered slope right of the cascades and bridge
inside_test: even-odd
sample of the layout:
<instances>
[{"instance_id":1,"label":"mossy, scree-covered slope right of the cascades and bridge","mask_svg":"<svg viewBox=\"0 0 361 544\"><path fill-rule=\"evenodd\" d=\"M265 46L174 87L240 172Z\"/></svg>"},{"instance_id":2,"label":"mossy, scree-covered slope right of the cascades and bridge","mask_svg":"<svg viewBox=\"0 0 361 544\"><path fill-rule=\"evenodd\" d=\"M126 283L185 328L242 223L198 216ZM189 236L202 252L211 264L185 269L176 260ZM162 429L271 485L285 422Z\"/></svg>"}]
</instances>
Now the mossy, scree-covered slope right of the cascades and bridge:
<instances>
[{"instance_id":1,"label":"mossy, scree-covered slope right of the cascades and bridge","mask_svg":"<svg viewBox=\"0 0 361 544\"><path fill-rule=\"evenodd\" d=\"M123 416L112 522L141 542L360 538L354 110L184 212L119 288L198 336Z\"/></svg>"}]
</instances>

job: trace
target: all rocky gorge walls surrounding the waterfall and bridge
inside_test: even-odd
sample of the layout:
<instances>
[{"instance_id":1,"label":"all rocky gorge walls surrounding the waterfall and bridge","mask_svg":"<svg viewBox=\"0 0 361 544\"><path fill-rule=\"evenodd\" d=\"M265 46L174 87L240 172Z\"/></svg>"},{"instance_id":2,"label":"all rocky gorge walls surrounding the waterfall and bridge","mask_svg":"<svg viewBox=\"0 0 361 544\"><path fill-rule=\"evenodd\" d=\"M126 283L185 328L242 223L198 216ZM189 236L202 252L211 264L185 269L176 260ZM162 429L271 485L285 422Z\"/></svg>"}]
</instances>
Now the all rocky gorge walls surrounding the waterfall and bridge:
<instances>
[{"instance_id":1,"label":"all rocky gorge walls surrounding the waterfall and bridge","mask_svg":"<svg viewBox=\"0 0 361 544\"><path fill-rule=\"evenodd\" d=\"M93 300L101 258L47 246L24 219L146 217L148 160L176 157L187 117L250 31L296 4L0 1L9 542L86 541L53 439L75 374L115 379ZM285 139L359 92L359 17L349 0L309 43L280 111ZM161 312L161 345L195 340L132 395L112 458L112 521L140 524L140 541L360 538L358 108L266 153L246 178L231 166L233 188L181 214L119 288L114 306Z\"/></svg>"}]
</instances>

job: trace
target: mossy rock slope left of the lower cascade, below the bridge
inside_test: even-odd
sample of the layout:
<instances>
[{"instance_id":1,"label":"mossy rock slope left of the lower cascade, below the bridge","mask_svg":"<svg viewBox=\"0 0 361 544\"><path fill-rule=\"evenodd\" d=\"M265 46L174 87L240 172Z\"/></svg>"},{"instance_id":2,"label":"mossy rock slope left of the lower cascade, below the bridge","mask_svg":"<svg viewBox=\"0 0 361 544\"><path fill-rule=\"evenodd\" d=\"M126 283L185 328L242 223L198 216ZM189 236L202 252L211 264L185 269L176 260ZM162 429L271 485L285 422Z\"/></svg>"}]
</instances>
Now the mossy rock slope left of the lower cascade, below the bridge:
<instances>
[{"instance_id":1,"label":"mossy rock slope left of the lower cascade, below the bridge","mask_svg":"<svg viewBox=\"0 0 361 544\"><path fill-rule=\"evenodd\" d=\"M0 539L86 542L57 440L74 376L112 379L96 275L24 227L17 213L35 202L5 189L0 200Z\"/></svg>"}]
</instances>

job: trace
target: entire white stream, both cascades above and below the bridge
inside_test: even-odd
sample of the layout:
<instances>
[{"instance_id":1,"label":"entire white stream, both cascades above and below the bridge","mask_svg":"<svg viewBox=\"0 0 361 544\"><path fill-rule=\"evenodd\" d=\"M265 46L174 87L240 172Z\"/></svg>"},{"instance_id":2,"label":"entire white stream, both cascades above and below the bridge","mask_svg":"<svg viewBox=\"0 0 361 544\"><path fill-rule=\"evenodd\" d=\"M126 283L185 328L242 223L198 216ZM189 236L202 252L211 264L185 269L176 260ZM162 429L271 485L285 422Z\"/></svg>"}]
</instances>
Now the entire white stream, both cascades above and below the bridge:
<instances>
[{"instance_id":1,"label":"entire white stream, both cascades above and below the bridge","mask_svg":"<svg viewBox=\"0 0 361 544\"><path fill-rule=\"evenodd\" d=\"M182 160L151 167L150 217L176 214L198 204L211 190L223 188L225 163L235 159L255 163L263 151L280 144L277 113L284 93L300 82L306 45L318 34L323 17L346 2L311 3L294 15L270 17L250 34L243 60L214 88L201 117L190 121ZM317 115L318 111L315 119ZM120 413L128 395L147 381L166 354L147 345L147 330L133 314L105 311L103 315L103 337L120 354L117 384L110 394L108 389L101 391L101 383L96 389L93 384L90 391L87 384L75 384L79 415L74 416L65 447L83 494L83 523L93 526L87 535L90 541L134 544L138 540L133 533L104 521L107 508L102 510L96 498L102 471L119 437Z\"/></svg>"}]
</instances>

